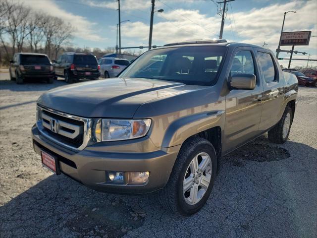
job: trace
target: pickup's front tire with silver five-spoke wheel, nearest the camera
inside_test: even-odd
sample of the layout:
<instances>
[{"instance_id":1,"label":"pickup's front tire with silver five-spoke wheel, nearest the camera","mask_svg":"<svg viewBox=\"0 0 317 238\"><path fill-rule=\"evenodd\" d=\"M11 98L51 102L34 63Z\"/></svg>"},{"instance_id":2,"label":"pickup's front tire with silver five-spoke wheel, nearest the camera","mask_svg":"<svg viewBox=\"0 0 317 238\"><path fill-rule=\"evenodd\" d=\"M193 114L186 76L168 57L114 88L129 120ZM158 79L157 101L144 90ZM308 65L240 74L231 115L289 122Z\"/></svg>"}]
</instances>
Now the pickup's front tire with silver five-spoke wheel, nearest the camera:
<instances>
[{"instance_id":1,"label":"pickup's front tire with silver five-spoke wheel, nearest the camera","mask_svg":"<svg viewBox=\"0 0 317 238\"><path fill-rule=\"evenodd\" d=\"M168 210L189 216L198 212L210 196L217 170L212 144L203 138L185 141L159 201Z\"/></svg>"}]
</instances>

